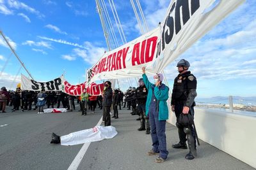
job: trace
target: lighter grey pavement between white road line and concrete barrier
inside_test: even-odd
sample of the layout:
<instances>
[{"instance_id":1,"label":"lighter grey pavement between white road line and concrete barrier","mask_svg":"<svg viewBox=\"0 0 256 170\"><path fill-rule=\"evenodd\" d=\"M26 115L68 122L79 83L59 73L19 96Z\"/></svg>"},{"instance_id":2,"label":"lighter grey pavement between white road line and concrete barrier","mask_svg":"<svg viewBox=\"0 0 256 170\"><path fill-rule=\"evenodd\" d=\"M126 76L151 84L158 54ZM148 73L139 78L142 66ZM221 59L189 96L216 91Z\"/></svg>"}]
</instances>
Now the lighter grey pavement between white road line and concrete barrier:
<instances>
[{"instance_id":1,"label":"lighter grey pavement between white road line and concrete barrier","mask_svg":"<svg viewBox=\"0 0 256 170\"><path fill-rule=\"evenodd\" d=\"M157 164L154 162L157 155L147 155L152 148L151 136L137 130L138 116L132 116L127 108L118 111L119 118L111 118L118 134L113 139L91 143L78 169L253 169L204 141L197 147L198 157L186 160L189 150L172 148L179 137L177 128L169 123L166 123L168 159Z\"/></svg>"}]
</instances>

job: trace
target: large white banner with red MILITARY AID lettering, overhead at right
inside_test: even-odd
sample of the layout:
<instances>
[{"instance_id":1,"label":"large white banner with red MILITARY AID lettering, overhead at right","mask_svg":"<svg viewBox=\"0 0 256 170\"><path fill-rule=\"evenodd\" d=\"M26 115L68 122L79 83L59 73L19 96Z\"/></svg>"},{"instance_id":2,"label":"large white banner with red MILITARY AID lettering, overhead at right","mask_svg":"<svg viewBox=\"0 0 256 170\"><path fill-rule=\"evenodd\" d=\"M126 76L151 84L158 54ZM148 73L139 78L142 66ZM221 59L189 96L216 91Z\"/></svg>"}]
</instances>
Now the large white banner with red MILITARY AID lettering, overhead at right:
<instances>
[{"instance_id":1,"label":"large white banner with red MILITARY AID lettering, overhead at right","mask_svg":"<svg viewBox=\"0 0 256 170\"><path fill-rule=\"evenodd\" d=\"M245 0L174 0L164 22L153 31L105 53L88 69L88 83L95 80L127 78L160 73L214 25Z\"/></svg>"}]
</instances>

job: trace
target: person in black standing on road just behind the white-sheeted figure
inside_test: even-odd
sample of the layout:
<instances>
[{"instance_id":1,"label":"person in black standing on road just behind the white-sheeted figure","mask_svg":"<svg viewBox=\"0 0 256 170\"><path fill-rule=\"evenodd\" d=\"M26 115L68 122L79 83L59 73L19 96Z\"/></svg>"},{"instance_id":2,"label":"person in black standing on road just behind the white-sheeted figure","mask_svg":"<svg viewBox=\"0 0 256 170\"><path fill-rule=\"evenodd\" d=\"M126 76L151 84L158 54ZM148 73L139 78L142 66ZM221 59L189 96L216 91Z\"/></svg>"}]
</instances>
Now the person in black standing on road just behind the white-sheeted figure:
<instances>
[{"instance_id":1,"label":"person in black standing on road just behind the white-sheeted figure","mask_svg":"<svg viewBox=\"0 0 256 170\"><path fill-rule=\"evenodd\" d=\"M112 105L112 97L113 97L113 90L111 89L111 82L105 81L105 87L102 92L102 106L103 106L103 117L102 121L104 121L105 126L111 125L111 118L110 118L110 107Z\"/></svg>"}]
</instances>

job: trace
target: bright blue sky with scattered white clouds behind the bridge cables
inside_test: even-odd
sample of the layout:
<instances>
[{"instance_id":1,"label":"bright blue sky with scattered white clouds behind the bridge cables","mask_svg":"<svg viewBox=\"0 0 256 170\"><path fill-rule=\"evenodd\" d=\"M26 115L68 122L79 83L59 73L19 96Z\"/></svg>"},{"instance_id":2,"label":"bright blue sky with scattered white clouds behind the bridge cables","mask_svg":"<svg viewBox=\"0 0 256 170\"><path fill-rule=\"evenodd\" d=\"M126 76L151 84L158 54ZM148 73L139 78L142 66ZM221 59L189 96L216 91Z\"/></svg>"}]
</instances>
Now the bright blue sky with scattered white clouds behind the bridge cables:
<instances>
[{"instance_id":1,"label":"bright blue sky with scattered white clouds behind the bridge cables","mask_svg":"<svg viewBox=\"0 0 256 170\"><path fill-rule=\"evenodd\" d=\"M127 41L140 36L130 1L114 2ZM154 29L163 21L170 1L140 3L149 28ZM246 1L166 67L171 89L177 61L184 58L198 80L198 97L256 96L255 16L255 2ZM85 70L108 49L94 0L0 0L0 29L36 81L50 81L65 71L67 81L81 83ZM28 76L10 53L0 38L0 71L4 68L0 86L8 89L17 85L20 73Z\"/></svg>"}]
</instances>

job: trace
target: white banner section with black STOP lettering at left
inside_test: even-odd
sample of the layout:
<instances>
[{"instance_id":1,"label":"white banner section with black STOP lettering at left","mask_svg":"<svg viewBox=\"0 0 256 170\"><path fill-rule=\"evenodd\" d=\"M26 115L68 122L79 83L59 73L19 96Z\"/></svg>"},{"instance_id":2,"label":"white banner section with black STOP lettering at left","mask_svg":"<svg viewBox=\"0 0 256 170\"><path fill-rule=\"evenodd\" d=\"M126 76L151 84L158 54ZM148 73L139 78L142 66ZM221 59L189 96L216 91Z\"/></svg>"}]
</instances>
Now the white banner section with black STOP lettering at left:
<instances>
[{"instance_id":1,"label":"white banner section with black STOP lettering at left","mask_svg":"<svg viewBox=\"0 0 256 170\"><path fill-rule=\"evenodd\" d=\"M21 74L21 90L32 90L32 91L40 91L44 89L45 91L59 91L62 90L62 83L64 77L60 76L59 78L55 78L54 80L47 82L38 82L35 80L31 80L28 77Z\"/></svg>"}]
</instances>

